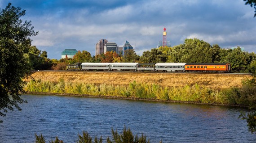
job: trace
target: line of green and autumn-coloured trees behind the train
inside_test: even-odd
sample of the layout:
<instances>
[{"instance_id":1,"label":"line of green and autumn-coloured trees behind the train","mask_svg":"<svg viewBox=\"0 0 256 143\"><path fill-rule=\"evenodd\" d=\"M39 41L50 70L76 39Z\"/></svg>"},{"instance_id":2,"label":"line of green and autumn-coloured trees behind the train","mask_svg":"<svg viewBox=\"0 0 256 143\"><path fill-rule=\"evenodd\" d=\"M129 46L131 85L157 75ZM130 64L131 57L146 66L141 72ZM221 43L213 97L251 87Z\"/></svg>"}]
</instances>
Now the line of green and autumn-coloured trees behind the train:
<instances>
[{"instance_id":1,"label":"line of green and autumn-coloured trees behind the train","mask_svg":"<svg viewBox=\"0 0 256 143\"><path fill-rule=\"evenodd\" d=\"M49 59L47 52L41 52L31 46L28 54L31 70L65 70L67 64L73 63L231 63L233 72L253 73L256 70L256 54L235 49L222 49L219 45L210 45L199 39L185 39L184 44L173 47L159 47L144 51L141 56L134 50L125 50L124 56L115 52L91 56L86 51L78 51L73 59Z\"/></svg>"}]
</instances>

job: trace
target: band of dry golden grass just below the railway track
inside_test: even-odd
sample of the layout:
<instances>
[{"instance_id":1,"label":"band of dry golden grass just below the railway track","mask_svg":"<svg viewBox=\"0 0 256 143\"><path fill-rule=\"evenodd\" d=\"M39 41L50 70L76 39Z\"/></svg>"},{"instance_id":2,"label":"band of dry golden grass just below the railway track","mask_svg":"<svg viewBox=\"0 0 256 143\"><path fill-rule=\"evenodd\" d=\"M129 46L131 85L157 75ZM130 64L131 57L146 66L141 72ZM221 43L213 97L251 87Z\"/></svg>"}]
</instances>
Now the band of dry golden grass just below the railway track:
<instances>
[{"instance_id":1,"label":"band of dry golden grass just below the railway track","mask_svg":"<svg viewBox=\"0 0 256 143\"><path fill-rule=\"evenodd\" d=\"M128 85L136 83L159 84L161 86L183 87L185 85L204 85L212 89L241 87L242 80L251 79L249 75L234 74L191 74L191 73L143 73L143 72L72 72L72 71L36 71L31 78L41 81Z\"/></svg>"}]
</instances>

